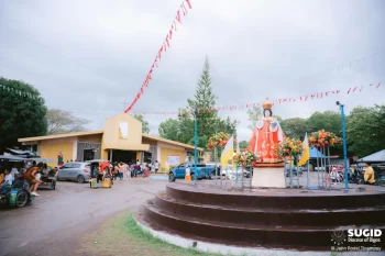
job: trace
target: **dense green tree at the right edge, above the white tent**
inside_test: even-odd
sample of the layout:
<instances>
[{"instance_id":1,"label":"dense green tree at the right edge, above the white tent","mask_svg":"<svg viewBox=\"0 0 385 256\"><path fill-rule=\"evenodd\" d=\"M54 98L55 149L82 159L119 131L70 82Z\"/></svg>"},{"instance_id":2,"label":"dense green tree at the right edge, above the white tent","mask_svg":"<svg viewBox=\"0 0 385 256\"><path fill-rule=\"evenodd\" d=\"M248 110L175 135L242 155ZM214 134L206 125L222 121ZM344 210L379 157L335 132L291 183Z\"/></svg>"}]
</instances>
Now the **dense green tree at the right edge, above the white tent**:
<instances>
[{"instance_id":1,"label":"dense green tree at the right edge, above the white tent","mask_svg":"<svg viewBox=\"0 0 385 256\"><path fill-rule=\"evenodd\" d=\"M354 108L346 118L348 149L365 157L385 145L385 105Z\"/></svg>"}]
</instances>

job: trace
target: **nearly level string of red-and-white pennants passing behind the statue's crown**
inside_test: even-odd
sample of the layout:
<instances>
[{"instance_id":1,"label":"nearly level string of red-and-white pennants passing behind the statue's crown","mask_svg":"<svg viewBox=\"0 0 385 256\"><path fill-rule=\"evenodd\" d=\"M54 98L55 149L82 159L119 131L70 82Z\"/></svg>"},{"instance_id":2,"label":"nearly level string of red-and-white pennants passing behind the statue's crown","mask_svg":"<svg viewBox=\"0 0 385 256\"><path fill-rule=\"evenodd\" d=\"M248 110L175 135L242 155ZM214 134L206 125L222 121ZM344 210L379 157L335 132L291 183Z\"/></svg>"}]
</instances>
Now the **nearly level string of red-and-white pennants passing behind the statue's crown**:
<instances>
[{"instance_id":1,"label":"nearly level string of red-and-white pennants passing behind the statue's crown","mask_svg":"<svg viewBox=\"0 0 385 256\"><path fill-rule=\"evenodd\" d=\"M358 92L362 92L364 88L374 88L377 89L381 86L381 82L378 84L370 84L366 86L361 86L361 87L351 87L348 90L331 90L331 91L323 91L323 92L316 92L316 93L310 93L306 96L299 96L299 97L289 97L289 98L280 98L276 100L271 100L273 105L280 105L280 104L286 104L286 103L294 103L294 102L307 102L310 100L318 100L318 99L323 99L328 98L330 96L339 96L339 94L353 94ZM213 109L207 109L207 110L199 110L199 112L211 112L211 111L226 111L226 110L245 110L245 109L253 109L253 108L260 108L263 104L264 101L260 102L253 102L253 103L246 103L246 104L241 104L241 105L224 105L224 107L218 107ZM156 112L132 112L132 114L178 114L178 111L156 111Z\"/></svg>"}]
</instances>

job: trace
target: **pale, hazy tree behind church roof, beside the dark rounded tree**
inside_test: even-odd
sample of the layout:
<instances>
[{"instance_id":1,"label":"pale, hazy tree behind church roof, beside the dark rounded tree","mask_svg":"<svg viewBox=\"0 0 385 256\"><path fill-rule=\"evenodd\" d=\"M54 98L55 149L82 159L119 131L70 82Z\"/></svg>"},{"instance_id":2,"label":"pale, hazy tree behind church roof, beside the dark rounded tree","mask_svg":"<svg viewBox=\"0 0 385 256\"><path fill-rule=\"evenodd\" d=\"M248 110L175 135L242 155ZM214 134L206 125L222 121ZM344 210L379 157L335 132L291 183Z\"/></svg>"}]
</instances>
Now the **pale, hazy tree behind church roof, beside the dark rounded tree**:
<instances>
[{"instance_id":1,"label":"pale, hazy tree behind church roof, beside the dark rounded tree","mask_svg":"<svg viewBox=\"0 0 385 256\"><path fill-rule=\"evenodd\" d=\"M89 121L76 118L73 112L61 109L48 109L47 114L48 132L47 134L62 134L86 131L84 125Z\"/></svg>"}]
</instances>

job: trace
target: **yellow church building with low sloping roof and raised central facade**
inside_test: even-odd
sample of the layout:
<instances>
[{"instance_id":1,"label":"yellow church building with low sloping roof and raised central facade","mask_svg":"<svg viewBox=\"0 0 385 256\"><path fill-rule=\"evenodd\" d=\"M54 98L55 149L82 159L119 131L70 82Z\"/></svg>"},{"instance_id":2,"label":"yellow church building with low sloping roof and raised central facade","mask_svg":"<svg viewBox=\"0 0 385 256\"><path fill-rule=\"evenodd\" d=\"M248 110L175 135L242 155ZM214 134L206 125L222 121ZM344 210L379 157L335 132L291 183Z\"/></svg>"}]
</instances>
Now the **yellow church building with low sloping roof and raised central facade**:
<instances>
[{"instance_id":1,"label":"yellow church building with low sloping roof and raised central facade","mask_svg":"<svg viewBox=\"0 0 385 256\"><path fill-rule=\"evenodd\" d=\"M57 160L106 159L131 163L157 160L161 166L176 166L194 155L194 146L142 133L142 123L121 113L106 120L105 130L19 138L37 148L37 155ZM198 147L201 152L202 148Z\"/></svg>"}]
</instances>

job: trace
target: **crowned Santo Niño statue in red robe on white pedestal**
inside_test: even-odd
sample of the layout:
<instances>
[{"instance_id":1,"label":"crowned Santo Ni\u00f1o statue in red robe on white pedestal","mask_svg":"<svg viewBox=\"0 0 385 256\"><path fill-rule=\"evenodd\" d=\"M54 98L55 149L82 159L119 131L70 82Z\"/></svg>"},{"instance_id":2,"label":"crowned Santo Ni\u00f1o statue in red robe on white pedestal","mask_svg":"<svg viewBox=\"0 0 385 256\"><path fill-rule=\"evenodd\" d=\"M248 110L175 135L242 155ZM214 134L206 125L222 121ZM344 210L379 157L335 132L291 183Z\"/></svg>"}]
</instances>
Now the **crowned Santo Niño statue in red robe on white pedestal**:
<instances>
[{"instance_id":1,"label":"crowned Santo Ni\u00f1o statue in red robe on white pedestal","mask_svg":"<svg viewBox=\"0 0 385 256\"><path fill-rule=\"evenodd\" d=\"M263 103L263 116L260 116L249 143L249 151L260 157L261 163L282 163L275 148L285 138L282 127L273 116L273 103L266 99Z\"/></svg>"}]
</instances>

